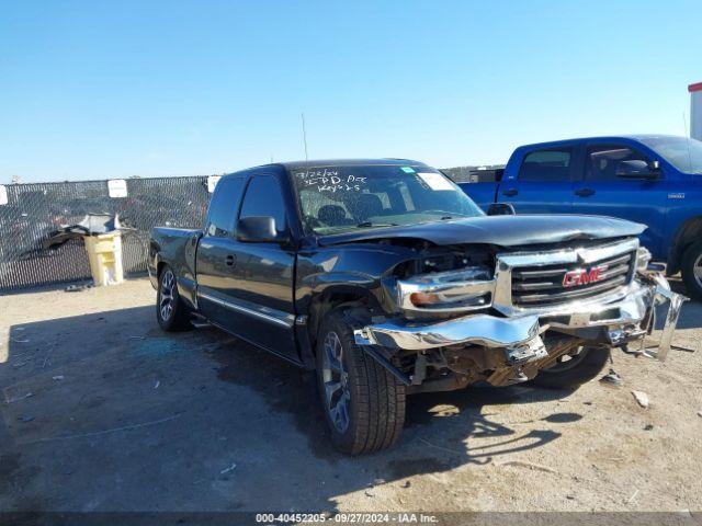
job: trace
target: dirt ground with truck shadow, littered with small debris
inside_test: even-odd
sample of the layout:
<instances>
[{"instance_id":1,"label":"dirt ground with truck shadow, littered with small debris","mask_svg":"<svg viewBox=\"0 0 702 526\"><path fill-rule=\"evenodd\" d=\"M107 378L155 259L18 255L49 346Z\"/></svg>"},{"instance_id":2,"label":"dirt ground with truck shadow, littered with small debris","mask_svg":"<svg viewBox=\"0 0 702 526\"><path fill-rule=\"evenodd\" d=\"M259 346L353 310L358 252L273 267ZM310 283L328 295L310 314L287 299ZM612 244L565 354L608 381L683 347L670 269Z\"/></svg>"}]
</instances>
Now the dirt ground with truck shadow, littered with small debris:
<instances>
[{"instance_id":1,"label":"dirt ground with truck shadow, littered with small debris","mask_svg":"<svg viewBox=\"0 0 702 526\"><path fill-rule=\"evenodd\" d=\"M0 297L0 511L702 510L702 348L618 352L619 388L416 396L398 444L347 458L309 373L165 334L154 301L146 279ZM679 327L699 346L702 305Z\"/></svg>"}]
</instances>

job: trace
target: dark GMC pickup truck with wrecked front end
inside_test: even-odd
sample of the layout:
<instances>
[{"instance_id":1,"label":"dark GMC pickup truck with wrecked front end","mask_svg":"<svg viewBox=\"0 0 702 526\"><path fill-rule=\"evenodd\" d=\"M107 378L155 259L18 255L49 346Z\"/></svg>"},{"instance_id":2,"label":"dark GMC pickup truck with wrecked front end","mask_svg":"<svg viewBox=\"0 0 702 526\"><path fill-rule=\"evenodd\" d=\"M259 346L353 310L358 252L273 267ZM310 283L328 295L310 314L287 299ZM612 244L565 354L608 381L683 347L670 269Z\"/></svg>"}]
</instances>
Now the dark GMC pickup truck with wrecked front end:
<instances>
[{"instance_id":1,"label":"dark GMC pickup truck with wrecked front end","mask_svg":"<svg viewBox=\"0 0 702 526\"><path fill-rule=\"evenodd\" d=\"M205 319L316 369L332 441L352 455L397 439L410 393L576 387L643 341L667 300L665 357L683 298L648 265L645 227L491 211L410 160L233 173L204 230L154 230L158 322Z\"/></svg>"}]
</instances>

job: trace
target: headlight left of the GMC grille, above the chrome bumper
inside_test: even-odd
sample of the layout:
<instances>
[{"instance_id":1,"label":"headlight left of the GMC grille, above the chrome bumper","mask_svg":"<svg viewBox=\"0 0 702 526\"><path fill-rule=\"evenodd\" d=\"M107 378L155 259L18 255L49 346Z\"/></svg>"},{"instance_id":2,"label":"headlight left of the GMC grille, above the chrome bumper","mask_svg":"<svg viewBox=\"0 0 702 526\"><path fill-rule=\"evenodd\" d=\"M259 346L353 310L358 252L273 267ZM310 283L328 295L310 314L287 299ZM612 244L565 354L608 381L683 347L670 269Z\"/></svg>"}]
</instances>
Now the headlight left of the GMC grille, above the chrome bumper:
<instances>
[{"instance_id":1,"label":"headlight left of the GMC grille, above the chrome bumper","mask_svg":"<svg viewBox=\"0 0 702 526\"><path fill-rule=\"evenodd\" d=\"M495 278L485 266L421 274L398 279L398 302L403 310L424 313L455 313L480 310L492 304Z\"/></svg>"}]
</instances>

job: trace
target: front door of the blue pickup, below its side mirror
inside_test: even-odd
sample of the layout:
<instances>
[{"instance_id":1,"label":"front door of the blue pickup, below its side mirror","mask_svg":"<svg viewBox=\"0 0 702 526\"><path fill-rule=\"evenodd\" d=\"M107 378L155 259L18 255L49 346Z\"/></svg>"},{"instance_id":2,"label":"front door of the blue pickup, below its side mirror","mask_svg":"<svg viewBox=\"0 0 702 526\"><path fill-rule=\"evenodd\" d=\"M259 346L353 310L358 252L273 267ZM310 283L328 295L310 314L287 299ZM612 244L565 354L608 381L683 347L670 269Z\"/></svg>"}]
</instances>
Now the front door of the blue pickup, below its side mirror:
<instances>
[{"instance_id":1,"label":"front door of the blue pickup, below its side mirror","mask_svg":"<svg viewBox=\"0 0 702 526\"><path fill-rule=\"evenodd\" d=\"M574 191L574 213L613 216L647 225L641 241L654 258L667 260L665 222L668 180L627 179L616 175L622 161L650 161L635 146L625 142L590 144L585 151L582 180Z\"/></svg>"}]
</instances>

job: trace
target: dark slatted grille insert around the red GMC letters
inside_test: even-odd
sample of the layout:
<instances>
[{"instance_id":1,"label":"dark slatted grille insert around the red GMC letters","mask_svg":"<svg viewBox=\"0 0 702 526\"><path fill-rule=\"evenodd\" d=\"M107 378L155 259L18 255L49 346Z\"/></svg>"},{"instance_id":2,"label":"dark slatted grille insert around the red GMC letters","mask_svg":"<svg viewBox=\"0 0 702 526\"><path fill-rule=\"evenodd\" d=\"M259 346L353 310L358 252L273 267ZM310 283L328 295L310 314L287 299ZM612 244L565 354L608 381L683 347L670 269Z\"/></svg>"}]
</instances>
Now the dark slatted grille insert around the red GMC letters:
<instances>
[{"instance_id":1,"label":"dark slatted grille insert around the red GMC letters","mask_svg":"<svg viewBox=\"0 0 702 526\"><path fill-rule=\"evenodd\" d=\"M635 253L630 252L587 266L575 263L516 268L512 271L512 304L543 307L610 293L629 283L634 261ZM566 276L590 276L593 268L602 268L597 281L575 277L570 286L565 285Z\"/></svg>"}]
</instances>

